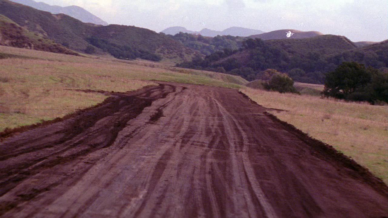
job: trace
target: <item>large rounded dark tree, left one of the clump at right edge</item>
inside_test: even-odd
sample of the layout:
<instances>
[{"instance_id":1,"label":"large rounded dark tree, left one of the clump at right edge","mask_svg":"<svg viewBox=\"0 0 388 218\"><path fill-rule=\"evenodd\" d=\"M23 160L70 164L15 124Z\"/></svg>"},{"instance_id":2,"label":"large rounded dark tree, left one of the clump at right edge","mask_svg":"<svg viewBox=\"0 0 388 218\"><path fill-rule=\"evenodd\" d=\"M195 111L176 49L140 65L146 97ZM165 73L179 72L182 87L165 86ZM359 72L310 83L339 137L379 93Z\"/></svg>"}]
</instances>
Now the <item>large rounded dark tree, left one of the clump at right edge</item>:
<instances>
[{"instance_id":1,"label":"large rounded dark tree, left one of the clump at right edge","mask_svg":"<svg viewBox=\"0 0 388 218\"><path fill-rule=\"evenodd\" d=\"M342 62L334 71L329 71L324 78L326 97L347 99L352 93L364 90L371 81L371 73L364 64Z\"/></svg>"}]
</instances>

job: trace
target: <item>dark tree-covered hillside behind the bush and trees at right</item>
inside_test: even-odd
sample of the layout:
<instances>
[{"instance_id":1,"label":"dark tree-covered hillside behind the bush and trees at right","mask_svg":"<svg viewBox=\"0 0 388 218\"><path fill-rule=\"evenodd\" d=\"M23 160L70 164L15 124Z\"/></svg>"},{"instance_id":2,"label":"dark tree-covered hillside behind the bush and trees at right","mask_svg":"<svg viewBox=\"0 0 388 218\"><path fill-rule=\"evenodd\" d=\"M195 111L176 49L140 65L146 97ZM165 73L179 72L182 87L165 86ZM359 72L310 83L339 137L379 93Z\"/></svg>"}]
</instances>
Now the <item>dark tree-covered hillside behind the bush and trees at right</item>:
<instances>
[{"instance_id":1,"label":"dark tree-covered hillside behind the bush and trees at right","mask_svg":"<svg viewBox=\"0 0 388 218\"><path fill-rule=\"evenodd\" d=\"M306 42L305 47L303 42ZM293 50L296 45L302 48ZM343 61L359 61L378 69L388 67L386 50L388 40L356 48L346 37L333 35L294 40L248 39L239 50L197 57L177 66L218 72L223 68L226 73L238 74L248 81L263 70L273 68L286 72L295 81L322 84L324 73L333 71ZM247 52L249 57L242 58Z\"/></svg>"}]
</instances>

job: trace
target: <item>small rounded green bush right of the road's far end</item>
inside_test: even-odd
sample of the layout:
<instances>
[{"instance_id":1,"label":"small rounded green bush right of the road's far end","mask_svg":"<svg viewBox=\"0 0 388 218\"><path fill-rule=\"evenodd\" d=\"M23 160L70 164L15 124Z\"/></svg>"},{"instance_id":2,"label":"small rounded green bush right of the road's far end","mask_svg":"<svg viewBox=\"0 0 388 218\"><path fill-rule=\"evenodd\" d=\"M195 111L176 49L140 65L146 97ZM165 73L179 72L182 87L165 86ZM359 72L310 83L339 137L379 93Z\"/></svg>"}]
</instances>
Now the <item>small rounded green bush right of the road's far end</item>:
<instances>
[{"instance_id":1,"label":"small rounded green bush right of the road's far end","mask_svg":"<svg viewBox=\"0 0 388 218\"><path fill-rule=\"evenodd\" d=\"M294 87L294 81L287 76L285 73L277 73L272 78L263 83L263 87L267 90L274 90L280 93L293 92L298 93Z\"/></svg>"}]
</instances>

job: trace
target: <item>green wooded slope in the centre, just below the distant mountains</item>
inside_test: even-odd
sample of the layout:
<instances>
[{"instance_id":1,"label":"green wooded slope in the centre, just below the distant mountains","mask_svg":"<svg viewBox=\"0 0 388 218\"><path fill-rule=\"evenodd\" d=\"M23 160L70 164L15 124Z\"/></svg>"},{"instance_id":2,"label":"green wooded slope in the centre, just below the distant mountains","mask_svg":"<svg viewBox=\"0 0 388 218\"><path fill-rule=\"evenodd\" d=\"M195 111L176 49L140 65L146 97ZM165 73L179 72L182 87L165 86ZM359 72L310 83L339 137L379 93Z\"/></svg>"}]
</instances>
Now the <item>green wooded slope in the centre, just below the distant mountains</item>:
<instances>
[{"instance_id":1,"label":"green wooded slope in the centre, just below the distant mountains","mask_svg":"<svg viewBox=\"0 0 388 218\"><path fill-rule=\"evenodd\" d=\"M174 36L168 35L174 40L181 42L184 46L197 50L204 55L211 55L215 52L223 51L225 48L237 50L242 47L242 42L246 37L241 36L215 36L207 37L190 33L177 33Z\"/></svg>"}]
</instances>

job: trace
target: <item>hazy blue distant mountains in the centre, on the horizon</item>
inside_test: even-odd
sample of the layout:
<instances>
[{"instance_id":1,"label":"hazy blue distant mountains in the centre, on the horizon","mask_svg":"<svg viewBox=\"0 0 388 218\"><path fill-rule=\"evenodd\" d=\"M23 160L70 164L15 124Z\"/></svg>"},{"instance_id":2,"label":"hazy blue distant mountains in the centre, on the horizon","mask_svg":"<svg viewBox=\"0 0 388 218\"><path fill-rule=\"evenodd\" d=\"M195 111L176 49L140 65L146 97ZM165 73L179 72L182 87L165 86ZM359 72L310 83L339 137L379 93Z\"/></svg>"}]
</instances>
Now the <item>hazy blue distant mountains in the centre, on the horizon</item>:
<instances>
[{"instance_id":1,"label":"hazy blue distant mountains in the centre, on the horizon","mask_svg":"<svg viewBox=\"0 0 388 218\"><path fill-rule=\"evenodd\" d=\"M236 27L236 26L224 29L223 31L215 31L207 28L204 28L201 31L191 31L191 30L187 30L182 26L173 26L173 27L164 29L161 32L169 35L175 35L179 32L182 32L182 33L191 33L191 34L210 36L210 37L214 37L217 35L250 36L250 35L264 33L263 31L258 29L248 29L248 28L242 28L242 27Z\"/></svg>"}]
</instances>

